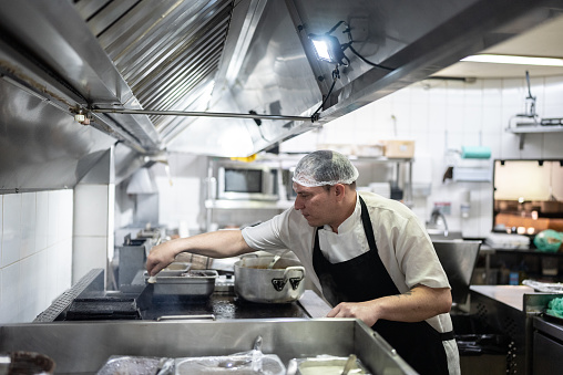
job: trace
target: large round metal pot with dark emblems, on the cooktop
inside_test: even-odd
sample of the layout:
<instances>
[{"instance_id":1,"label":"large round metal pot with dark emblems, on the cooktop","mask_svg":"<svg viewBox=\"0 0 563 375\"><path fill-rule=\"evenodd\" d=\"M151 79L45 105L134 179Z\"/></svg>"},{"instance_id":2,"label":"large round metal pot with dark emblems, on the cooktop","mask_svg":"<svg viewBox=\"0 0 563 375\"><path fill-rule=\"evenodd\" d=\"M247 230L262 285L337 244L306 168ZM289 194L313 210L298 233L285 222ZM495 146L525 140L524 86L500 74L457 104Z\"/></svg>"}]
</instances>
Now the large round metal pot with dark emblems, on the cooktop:
<instances>
[{"instance_id":1,"label":"large round metal pot with dark emblems, on the cooktop","mask_svg":"<svg viewBox=\"0 0 563 375\"><path fill-rule=\"evenodd\" d=\"M267 269L274 257L244 257L235 262L235 292L243 299L260 303L288 303L305 291L305 268L293 259L279 259Z\"/></svg>"}]
</instances>

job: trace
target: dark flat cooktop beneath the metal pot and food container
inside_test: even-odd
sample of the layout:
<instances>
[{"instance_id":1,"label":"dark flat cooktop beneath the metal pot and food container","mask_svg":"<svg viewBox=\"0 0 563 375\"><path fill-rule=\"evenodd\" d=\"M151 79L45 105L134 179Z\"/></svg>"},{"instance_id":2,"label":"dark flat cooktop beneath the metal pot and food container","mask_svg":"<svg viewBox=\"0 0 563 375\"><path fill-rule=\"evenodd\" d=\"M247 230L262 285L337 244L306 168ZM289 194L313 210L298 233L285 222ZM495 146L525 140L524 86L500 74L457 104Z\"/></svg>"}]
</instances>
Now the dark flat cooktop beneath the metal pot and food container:
<instances>
[{"instance_id":1,"label":"dark flat cooktop beneath the metal pot and food container","mask_svg":"<svg viewBox=\"0 0 563 375\"><path fill-rule=\"evenodd\" d=\"M314 292L303 301L254 303L238 298L228 283L218 283L209 295L177 295L155 292L156 284L132 284L121 291L103 290L103 270L92 270L81 282L41 313L35 322L96 320L226 320L270 317L320 317L329 310ZM223 280L225 280L223 278ZM74 290L75 289L75 290ZM74 290L74 291L73 291ZM323 312L305 305L320 305ZM327 310L328 309L328 310Z\"/></svg>"}]
</instances>

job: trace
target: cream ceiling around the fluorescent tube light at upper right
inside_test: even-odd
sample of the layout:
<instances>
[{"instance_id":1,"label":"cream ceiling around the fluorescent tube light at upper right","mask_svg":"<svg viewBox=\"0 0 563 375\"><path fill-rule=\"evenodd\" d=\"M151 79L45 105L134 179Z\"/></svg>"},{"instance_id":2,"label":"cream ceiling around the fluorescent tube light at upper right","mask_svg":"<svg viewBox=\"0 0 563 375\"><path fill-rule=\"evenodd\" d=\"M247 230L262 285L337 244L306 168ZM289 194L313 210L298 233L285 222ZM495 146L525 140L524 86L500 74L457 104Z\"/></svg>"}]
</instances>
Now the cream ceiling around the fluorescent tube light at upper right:
<instances>
[{"instance_id":1,"label":"cream ceiling around the fluorescent tube light at upper right","mask_svg":"<svg viewBox=\"0 0 563 375\"><path fill-rule=\"evenodd\" d=\"M563 59L562 35L563 15L560 15L551 21L545 21L539 24L526 33L483 50L481 53ZM531 77L563 75L563 66L534 66L477 62L459 62L433 75L467 79L524 77L525 71L530 72Z\"/></svg>"}]
</instances>

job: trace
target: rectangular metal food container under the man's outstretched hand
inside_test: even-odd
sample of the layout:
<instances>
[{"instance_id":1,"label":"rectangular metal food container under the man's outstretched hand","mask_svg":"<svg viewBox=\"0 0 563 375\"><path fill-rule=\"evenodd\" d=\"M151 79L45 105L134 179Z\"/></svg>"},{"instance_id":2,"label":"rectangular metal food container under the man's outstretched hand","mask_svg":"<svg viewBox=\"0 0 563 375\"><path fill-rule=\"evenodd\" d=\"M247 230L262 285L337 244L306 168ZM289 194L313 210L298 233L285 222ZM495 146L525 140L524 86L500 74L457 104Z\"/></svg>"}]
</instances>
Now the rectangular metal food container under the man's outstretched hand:
<instances>
[{"instance_id":1,"label":"rectangular metal food container under the man's outstretched hand","mask_svg":"<svg viewBox=\"0 0 563 375\"><path fill-rule=\"evenodd\" d=\"M144 273L145 283L149 273ZM156 275L153 285L153 296L177 295L188 298L208 298L215 290L215 270L192 270L178 275Z\"/></svg>"}]
</instances>

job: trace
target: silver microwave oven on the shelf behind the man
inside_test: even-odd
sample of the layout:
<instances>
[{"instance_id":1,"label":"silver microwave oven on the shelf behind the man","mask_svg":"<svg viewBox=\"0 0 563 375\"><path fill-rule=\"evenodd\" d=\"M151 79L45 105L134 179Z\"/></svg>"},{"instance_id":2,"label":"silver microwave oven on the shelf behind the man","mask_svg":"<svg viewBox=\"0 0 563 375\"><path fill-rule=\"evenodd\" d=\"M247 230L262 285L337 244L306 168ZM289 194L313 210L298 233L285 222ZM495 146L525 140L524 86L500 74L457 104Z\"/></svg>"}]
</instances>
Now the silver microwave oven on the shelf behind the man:
<instances>
[{"instance_id":1,"label":"silver microwave oven on the shelf behind the man","mask_svg":"<svg viewBox=\"0 0 563 375\"><path fill-rule=\"evenodd\" d=\"M265 165L223 164L217 168L217 198L278 200L278 169Z\"/></svg>"}]
</instances>

